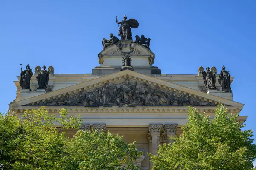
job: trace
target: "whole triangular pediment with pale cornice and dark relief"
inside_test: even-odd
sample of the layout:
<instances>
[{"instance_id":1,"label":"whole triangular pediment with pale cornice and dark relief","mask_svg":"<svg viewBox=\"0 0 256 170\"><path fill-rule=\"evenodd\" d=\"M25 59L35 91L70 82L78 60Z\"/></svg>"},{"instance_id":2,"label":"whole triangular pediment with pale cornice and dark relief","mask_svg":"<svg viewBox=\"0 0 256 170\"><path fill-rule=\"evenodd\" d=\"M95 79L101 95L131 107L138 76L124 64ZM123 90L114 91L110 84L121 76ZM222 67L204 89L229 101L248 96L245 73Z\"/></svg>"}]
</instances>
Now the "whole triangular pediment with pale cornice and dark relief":
<instances>
[{"instance_id":1,"label":"whole triangular pediment with pale cornice and dark relief","mask_svg":"<svg viewBox=\"0 0 256 170\"><path fill-rule=\"evenodd\" d=\"M120 71L10 106L227 106L243 104L134 71Z\"/></svg>"}]
</instances>

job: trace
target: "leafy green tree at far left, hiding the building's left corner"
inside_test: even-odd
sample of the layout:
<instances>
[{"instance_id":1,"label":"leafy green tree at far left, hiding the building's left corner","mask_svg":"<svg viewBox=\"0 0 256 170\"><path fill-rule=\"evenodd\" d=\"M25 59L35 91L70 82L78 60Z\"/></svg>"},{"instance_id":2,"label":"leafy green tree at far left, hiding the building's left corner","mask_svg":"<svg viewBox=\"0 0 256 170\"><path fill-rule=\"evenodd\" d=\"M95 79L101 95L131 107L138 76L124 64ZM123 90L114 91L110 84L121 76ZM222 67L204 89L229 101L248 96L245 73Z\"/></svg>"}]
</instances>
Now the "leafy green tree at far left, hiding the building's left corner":
<instances>
[{"instance_id":1,"label":"leafy green tree at far left, hiding the building's left corner","mask_svg":"<svg viewBox=\"0 0 256 170\"><path fill-rule=\"evenodd\" d=\"M54 127L54 122L58 128ZM21 119L0 116L0 164L2 169L48 170L61 169L61 159L68 139L64 129L78 128L79 115L67 117L49 115L44 108L26 110Z\"/></svg>"}]
</instances>

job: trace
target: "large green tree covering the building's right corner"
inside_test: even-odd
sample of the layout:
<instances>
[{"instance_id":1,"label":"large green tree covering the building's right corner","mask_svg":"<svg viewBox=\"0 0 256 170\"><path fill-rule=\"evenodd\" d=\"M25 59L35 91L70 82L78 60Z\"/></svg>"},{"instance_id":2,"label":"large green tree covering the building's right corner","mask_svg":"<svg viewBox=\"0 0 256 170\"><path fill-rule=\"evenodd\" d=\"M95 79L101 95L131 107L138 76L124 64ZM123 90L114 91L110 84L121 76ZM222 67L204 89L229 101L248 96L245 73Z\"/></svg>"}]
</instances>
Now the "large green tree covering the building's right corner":
<instances>
[{"instance_id":1,"label":"large green tree covering the building's right corner","mask_svg":"<svg viewBox=\"0 0 256 170\"><path fill-rule=\"evenodd\" d=\"M236 115L218 104L215 118L189 108L183 133L151 155L154 170L251 170L256 157L252 130L242 131Z\"/></svg>"}]
</instances>

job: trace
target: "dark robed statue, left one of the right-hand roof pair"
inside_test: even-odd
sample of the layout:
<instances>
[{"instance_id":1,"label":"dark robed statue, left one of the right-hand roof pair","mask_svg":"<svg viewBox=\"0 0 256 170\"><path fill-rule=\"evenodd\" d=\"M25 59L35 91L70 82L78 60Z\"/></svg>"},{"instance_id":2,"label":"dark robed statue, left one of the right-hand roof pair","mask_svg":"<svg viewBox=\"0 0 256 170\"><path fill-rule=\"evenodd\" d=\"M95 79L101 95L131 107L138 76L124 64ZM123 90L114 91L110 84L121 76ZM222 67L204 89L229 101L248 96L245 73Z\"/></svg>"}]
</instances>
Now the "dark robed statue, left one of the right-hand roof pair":
<instances>
[{"instance_id":1,"label":"dark robed statue, left one of the right-hand roof pair","mask_svg":"<svg viewBox=\"0 0 256 170\"><path fill-rule=\"evenodd\" d=\"M216 74L212 73L212 71L210 71L209 67L207 67L206 71L203 71L202 74L203 74L204 85L205 85L206 89L207 90L217 89L216 86L215 86Z\"/></svg>"}]
</instances>

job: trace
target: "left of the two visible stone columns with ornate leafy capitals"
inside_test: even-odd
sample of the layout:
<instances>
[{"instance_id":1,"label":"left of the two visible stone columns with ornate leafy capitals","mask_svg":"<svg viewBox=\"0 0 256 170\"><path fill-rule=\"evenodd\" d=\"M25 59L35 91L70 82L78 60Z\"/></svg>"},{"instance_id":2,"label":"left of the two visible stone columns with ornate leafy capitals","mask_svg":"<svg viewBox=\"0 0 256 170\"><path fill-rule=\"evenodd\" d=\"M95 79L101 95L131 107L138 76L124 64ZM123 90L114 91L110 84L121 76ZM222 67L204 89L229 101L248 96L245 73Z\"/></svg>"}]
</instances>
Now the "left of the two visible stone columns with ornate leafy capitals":
<instances>
[{"instance_id":1,"label":"left of the two visible stone columns with ornate leafy capitals","mask_svg":"<svg viewBox=\"0 0 256 170\"><path fill-rule=\"evenodd\" d=\"M156 155L158 151L159 146L159 137L161 130L163 128L163 125L149 125L149 133L151 133L152 136L152 154Z\"/></svg>"}]
</instances>

